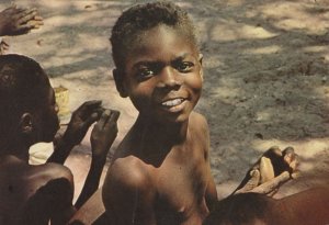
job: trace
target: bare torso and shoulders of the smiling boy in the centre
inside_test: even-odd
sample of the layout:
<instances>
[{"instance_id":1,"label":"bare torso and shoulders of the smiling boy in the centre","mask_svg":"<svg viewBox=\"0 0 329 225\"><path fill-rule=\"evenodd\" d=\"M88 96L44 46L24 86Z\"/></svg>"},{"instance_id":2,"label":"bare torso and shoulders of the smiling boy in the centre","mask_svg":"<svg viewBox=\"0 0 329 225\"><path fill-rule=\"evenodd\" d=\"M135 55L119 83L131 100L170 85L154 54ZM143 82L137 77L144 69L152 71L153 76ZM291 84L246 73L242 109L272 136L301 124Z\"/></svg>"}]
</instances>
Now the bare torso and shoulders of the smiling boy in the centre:
<instances>
[{"instance_id":1,"label":"bare torso and shoulders of the smiling boy in the centre","mask_svg":"<svg viewBox=\"0 0 329 225\"><path fill-rule=\"evenodd\" d=\"M123 172L124 178L122 177L122 179L135 180L138 178L141 180L141 187L137 184L137 189L140 190L141 195L146 195L139 202L134 203L137 204L134 210L136 217L133 218L136 224L193 225L201 224L208 214L205 196L212 176L207 157L207 124L196 113L192 113L191 116L186 139L181 144L170 146L169 150L155 149L154 154L149 154L149 151L145 154L144 149L146 148L138 148L138 143L145 147L143 140L134 139L136 138L134 132L127 135L125 138L127 142L123 142L117 149L111 172ZM114 187L107 188L109 183L106 182L111 182L109 177L111 176L107 175L103 188L105 206L106 204L118 204L118 202L112 201L113 198L111 200L111 193L109 195L106 193L106 191L115 192ZM131 184L129 181L128 184ZM117 201L125 200L117 199ZM147 206L144 207L144 205ZM121 212L124 209L109 207L112 209L109 209L109 212L115 212L116 216L111 215L110 212L110 217L116 223L117 217L125 214ZM123 224L129 224L129 222L126 221Z\"/></svg>"}]
</instances>

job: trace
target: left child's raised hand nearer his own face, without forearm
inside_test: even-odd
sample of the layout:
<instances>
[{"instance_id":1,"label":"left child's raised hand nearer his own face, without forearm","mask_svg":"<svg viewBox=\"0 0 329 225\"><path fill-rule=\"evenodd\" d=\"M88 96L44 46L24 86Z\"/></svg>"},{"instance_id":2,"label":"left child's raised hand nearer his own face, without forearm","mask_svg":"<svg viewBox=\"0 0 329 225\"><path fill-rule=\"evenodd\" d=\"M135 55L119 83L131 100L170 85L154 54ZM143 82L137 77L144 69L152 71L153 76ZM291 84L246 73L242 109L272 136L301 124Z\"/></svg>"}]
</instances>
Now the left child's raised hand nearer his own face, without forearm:
<instances>
[{"instance_id":1,"label":"left child's raised hand nearer his own face, without forearm","mask_svg":"<svg viewBox=\"0 0 329 225\"><path fill-rule=\"evenodd\" d=\"M78 145L81 143L91 124L98 121L104 111L101 104L102 101L87 101L72 113L63 137L67 144Z\"/></svg>"}]
</instances>

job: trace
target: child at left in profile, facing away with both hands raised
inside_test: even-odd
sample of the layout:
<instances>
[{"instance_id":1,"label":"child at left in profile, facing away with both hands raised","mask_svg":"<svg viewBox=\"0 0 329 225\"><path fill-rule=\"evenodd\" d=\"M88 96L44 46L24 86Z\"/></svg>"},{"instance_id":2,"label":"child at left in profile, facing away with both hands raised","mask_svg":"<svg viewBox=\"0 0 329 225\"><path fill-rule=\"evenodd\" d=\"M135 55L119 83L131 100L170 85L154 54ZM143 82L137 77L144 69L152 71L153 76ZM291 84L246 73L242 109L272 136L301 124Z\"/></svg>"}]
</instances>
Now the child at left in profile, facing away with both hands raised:
<instances>
[{"instance_id":1,"label":"child at left in profile, facing away with both hands raised","mask_svg":"<svg viewBox=\"0 0 329 225\"><path fill-rule=\"evenodd\" d=\"M0 224L66 224L73 213L73 178L59 164L29 165L29 148L52 142L59 127L54 90L41 66L20 55L0 56ZM118 113L102 113L100 101L82 104L75 113L49 161L63 164L89 126L92 162L77 204L98 188L106 154L117 130Z\"/></svg>"}]
</instances>

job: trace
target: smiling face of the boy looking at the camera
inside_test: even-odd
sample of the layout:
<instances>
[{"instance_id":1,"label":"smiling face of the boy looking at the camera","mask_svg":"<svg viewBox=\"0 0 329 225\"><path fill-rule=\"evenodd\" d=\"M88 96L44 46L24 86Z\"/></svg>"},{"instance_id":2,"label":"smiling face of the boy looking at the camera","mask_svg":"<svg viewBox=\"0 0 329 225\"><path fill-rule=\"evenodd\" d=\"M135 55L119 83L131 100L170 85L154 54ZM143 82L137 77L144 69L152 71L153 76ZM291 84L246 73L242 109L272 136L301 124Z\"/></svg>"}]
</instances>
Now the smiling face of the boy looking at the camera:
<instances>
[{"instance_id":1,"label":"smiling face of the boy looking at the camera","mask_svg":"<svg viewBox=\"0 0 329 225\"><path fill-rule=\"evenodd\" d=\"M188 38L166 25L135 41L126 57L122 95L141 115L159 122L184 122L202 89L201 55Z\"/></svg>"}]
</instances>

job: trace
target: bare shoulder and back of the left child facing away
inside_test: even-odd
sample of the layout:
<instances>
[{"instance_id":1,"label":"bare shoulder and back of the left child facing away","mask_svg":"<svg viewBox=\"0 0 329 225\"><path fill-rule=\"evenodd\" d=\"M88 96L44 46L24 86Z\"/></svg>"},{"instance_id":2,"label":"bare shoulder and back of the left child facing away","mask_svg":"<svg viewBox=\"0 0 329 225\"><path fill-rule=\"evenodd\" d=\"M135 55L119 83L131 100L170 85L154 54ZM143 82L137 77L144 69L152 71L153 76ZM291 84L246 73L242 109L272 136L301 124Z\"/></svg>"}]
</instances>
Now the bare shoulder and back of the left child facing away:
<instances>
[{"instance_id":1,"label":"bare shoulder and back of the left child facing away","mask_svg":"<svg viewBox=\"0 0 329 225\"><path fill-rule=\"evenodd\" d=\"M30 166L14 156L1 158L0 224L21 224L26 216L32 217L31 223L24 221L25 224L35 223L34 220L37 220L38 224L47 224L52 214L48 209L52 204L55 210L57 201L71 201L71 183L72 176L63 166ZM56 194L65 196L58 198ZM57 201L54 201L56 198ZM38 217L34 218L36 211Z\"/></svg>"}]
</instances>

